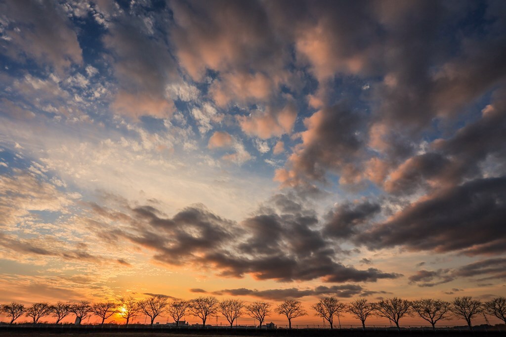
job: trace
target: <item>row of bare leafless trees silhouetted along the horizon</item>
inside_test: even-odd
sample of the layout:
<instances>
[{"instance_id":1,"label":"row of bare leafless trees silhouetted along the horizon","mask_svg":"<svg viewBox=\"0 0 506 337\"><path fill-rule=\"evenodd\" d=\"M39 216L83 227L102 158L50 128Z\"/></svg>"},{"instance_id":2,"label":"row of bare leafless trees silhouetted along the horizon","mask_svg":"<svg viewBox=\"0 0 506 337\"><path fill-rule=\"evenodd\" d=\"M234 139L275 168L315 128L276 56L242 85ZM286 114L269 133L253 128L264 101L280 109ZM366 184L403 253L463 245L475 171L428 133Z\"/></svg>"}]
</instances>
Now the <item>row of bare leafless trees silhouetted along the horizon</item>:
<instances>
[{"instance_id":1,"label":"row of bare leafless trees silhouetted along the horizon","mask_svg":"<svg viewBox=\"0 0 506 337\"><path fill-rule=\"evenodd\" d=\"M435 299L408 301L394 297L378 302L357 299L350 303L343 303L336 297L330 296L321 298L318 303L311 306L311 309L315 316L326 320L331 329L334 327L334 318L339 319L344 313L351 314L360 320L363 329L365 329L366 319L372 315L389 319L398 329L400 329L399 321L406 316L420 317L429 322L434 330L436 323L451 318L464 319L469 328L473 330L472 320L480 314L497 317L506 324L506 298L504 297L494 298L487 302L473 300L471 297L457 297L452 302ZM272 311L286 316L289 328L291 328L292 319L308 315L301 301L285 300L273 307L271 303L261 301L249 304L237 299L219 301L214 296L199 297L188 301L169 300L168 297L156 295L144 300L123 297L117 302L80 301L77 303L57 302L56 304L38 302L28 307L12 302L0 306L0 313L10 318L10 324L23 315L31 318L33 323L38 323L42 317L52 316L56 318L58 324L62 319L73 314L76 324L80 324L82 320L94 315L102 319L103 326L106 319L118 314L125 319L126 327L134 317L139 315L149 317L150 324L153 326L154 320L161 314L168 314L172 317L176 326L187 314L200 318L202 325L205 325L207 318L221 314L230 323L230 327L239 317L244 315L258 320L259 327L262 327L265 318Z\"/></svg>"}]
</instances>

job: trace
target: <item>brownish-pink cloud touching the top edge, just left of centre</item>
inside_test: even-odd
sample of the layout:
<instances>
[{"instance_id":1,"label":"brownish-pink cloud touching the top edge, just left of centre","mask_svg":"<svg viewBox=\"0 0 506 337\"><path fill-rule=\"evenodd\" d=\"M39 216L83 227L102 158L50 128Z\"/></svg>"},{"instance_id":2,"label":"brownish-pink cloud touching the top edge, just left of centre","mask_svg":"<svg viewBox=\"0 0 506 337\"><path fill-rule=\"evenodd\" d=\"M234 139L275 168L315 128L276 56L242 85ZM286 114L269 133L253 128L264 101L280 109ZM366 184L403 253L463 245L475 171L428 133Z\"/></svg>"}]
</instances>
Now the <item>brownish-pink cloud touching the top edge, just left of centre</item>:
<instances>
[{"instance_id":1,"label":"brownish-pink cloud touching the top edge, just left of centre","mask_svg":"<svg viewBox=\"0 0 506 337\"><path fill-rule=\"evenodd\" d=\"M271 29L261 3L174 2L171 9L176 55L194 80L202 78L206 69L214 69L231 74L225 77L238 76L233 78L237 82L226 84L235 90L232 94L245 89L257 98L265 95L254 83L268 80L262 73L272 78L282 68L284 51L283 41ZM260 73L248 77L246 69Z\"/></svg>"}]
</instances>

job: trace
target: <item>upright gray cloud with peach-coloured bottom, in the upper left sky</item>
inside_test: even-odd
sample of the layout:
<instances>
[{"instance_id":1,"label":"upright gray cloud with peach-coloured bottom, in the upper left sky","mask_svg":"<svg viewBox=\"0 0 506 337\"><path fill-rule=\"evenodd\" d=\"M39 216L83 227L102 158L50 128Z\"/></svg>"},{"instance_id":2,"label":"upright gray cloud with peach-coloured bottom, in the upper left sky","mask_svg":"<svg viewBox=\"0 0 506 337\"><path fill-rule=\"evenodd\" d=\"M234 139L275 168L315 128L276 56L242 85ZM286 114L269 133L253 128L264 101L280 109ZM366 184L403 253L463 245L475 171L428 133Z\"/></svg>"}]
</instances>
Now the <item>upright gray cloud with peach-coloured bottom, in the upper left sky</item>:
<instances>
[{"instance_id":1,"label":"upright gray cloud with peach-coloured bottom, in the upper left sky","mask_svg":"<svg viewBox=\"0 0 506 337\"><path fill-rule=\"evenodd\" d=\"M118 90L112 109L133 119L166 118L175 111L166 86L180 82L176 63L160 36L146 36L136 18L122 18L103 38L114 57Z\"/></svg>"}]
</instances>

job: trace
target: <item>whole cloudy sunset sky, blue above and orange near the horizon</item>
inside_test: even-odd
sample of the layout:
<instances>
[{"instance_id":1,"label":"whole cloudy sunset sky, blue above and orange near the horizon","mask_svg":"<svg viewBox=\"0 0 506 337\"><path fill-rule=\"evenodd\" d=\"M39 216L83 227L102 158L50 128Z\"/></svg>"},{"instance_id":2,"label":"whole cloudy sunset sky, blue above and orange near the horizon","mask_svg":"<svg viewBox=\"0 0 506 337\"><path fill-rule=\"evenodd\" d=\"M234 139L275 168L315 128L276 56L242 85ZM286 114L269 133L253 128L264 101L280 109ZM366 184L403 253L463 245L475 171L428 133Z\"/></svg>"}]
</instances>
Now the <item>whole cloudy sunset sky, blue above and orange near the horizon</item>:
<instances>
[{"instance_id":1,"label":"whole cloudy sunset sky, blue above and orange near the horizon","mask_svg":"<svg viewBox=\"0 0 506 337\"><path fill-rule=\"evenodd\" d=\"M500 0L0 1L0 303L504 296L504 60Z\"/></svg>"}]
</instances>

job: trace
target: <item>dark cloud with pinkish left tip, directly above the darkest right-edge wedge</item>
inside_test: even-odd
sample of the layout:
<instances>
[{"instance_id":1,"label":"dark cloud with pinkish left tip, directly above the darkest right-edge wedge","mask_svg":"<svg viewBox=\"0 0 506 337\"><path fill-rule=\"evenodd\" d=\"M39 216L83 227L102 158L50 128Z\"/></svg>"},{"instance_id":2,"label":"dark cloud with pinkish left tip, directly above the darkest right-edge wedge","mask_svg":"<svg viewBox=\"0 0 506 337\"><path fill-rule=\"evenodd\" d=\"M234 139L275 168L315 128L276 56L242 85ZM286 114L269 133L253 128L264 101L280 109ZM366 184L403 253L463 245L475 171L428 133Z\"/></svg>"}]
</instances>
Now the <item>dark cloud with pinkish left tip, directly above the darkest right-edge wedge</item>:
<instances>
[{"instance_id":1,"label":"dark cloud with pinkish left tip, directly above the darkest right-edge wedge","mask_svg":"<svg viewBox=\"0 0 506 337\"><path fill-rule=\"evenodd\" d=\"M437 139L430 152L399 165L385 182L388 192L409 194L420 189L440 189L480 176L503 176L506 159L506 104L504 89L494 92L481 118L470 122L448 139ZM490 161L495 165L490 170Z\"/></svg>"}]
</instances>

